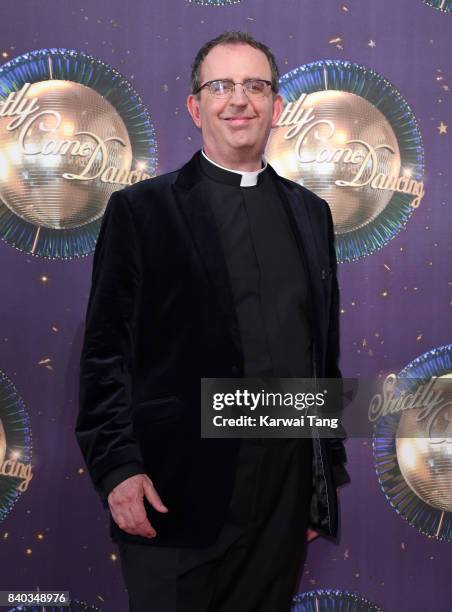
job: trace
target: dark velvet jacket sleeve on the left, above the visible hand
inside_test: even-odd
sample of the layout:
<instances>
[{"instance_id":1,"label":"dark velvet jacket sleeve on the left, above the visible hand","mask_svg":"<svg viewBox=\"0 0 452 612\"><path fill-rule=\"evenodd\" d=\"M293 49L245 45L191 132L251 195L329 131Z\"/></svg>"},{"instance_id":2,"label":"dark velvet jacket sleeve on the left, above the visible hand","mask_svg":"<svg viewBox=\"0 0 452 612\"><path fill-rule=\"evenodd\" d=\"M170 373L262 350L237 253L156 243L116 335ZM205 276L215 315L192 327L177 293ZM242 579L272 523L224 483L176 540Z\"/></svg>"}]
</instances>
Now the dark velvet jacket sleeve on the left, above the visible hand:
<instances>
[{"instance_id":1,"label":"dark velvet jacket sleeve on the left, above the visible hand","mask_svg":"<svg viewBox=\"0 0 452 612\"><path fill-rule=\"evenodd\" d=\"M76 438L105 505L103 479L143 460L130 418L140 258L132 213L122 192L108 201L93 258L80 357ZM116 472L117 473L117 472ZM118 483L116 483L118 484Z\"/></svg>"}]
</instances>

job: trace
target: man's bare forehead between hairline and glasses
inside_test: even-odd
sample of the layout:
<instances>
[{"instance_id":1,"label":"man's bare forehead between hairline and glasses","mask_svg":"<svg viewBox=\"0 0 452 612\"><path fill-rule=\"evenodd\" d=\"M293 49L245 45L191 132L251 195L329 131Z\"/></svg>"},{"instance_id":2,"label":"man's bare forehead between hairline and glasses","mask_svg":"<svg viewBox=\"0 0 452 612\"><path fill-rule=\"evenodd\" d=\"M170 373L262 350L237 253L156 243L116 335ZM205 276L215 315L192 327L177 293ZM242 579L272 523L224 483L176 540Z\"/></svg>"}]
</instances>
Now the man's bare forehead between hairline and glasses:
<instances>
[{"instance_id":1,"label":"man's bare forehead between hairline and glasses","mask_svg":"<svg viewBox=\"0 0 452 612\"><path fill-rule=\"evenodd\" d=\"M222 71L222 74L212 74ZM246 43L217 45L209 51L201 64L201 74L209 77L229 78L233 72L246 73L247 77L270 77L271 68L267 56L260 49ZM257 71L257 72L256 72Z\"/></svg>"}]
</instances>

